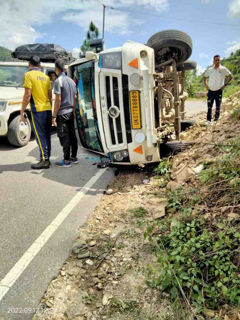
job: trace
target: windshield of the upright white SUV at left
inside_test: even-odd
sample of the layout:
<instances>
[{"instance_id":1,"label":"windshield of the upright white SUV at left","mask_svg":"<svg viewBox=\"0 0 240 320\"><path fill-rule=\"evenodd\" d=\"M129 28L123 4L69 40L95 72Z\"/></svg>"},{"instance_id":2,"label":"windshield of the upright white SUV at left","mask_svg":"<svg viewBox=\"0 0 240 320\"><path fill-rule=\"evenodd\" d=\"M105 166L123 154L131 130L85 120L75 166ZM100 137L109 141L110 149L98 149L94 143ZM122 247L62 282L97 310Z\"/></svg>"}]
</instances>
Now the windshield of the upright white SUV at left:
<instances>
[{"instance_id":1,"label":"windshield of the upright white SUV at left","mask_svg":"<svg viewBox=\"0 0 240 320\"><path fill-rule=\"evenodd\" d=\"M0 86L22 87L28 67L0 66Z\"/></svg>"}]
</instances>

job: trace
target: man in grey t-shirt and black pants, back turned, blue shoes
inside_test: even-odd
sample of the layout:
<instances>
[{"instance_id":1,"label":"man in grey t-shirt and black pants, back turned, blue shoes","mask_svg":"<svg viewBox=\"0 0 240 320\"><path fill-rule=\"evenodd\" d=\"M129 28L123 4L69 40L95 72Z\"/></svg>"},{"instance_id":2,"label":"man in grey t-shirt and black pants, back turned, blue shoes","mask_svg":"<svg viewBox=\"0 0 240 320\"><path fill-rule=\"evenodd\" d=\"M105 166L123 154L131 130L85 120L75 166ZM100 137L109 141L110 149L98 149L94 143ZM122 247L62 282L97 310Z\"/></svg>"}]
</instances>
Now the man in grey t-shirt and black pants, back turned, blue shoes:
<instances>
[{"instance_id":1,"label":"man in grey t-shirt and black pants, back turned, blue shoes","mask_svg":"<svg viewBox=\"0 0 240 320\"><path fill-rule=\"evenodd\" d=\"M64 158L55 162L55 165L68 168L71 167L71 163L78 163L78 144L74 125L77 91L75 82L65 75L64 62L60 59L55 61L55 72L58 78L54 82L55 103L52 124L57 127L57 134L64 153Z\"/></svg>"}]
</instances>

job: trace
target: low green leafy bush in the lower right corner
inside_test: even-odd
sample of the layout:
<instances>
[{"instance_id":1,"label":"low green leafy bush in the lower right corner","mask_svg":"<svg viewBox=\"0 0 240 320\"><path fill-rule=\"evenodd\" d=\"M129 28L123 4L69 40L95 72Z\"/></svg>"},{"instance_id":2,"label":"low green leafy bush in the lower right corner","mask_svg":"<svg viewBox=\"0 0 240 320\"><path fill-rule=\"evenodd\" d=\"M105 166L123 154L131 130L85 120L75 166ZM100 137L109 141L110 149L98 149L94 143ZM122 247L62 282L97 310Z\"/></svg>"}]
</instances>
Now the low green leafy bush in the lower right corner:
<instances>
[{"instance_id":1,"label":"low green leafy bush in the lower right corner","mask_svg":"<svg viewBox=\"0 0 240 320\"><path fill-rule=\"evenodd\" d=\"M226 302L238 304L239 228L228 227L225 220L210 228L209 221L203 218L172 222L172 230L158 241L161 271L155 284L170 291L174 299L185 294L198 311ZM155 225L148 226L149 236L154 228Z\"/></svg>"}]
</instances>

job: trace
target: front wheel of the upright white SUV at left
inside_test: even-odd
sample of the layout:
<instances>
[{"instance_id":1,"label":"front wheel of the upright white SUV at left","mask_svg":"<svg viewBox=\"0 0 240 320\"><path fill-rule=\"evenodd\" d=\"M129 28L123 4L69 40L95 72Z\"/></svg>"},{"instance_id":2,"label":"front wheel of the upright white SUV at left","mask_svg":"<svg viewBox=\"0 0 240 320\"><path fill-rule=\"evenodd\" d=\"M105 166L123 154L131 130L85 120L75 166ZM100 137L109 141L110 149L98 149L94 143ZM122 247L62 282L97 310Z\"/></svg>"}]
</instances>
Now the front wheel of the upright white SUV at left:
<instances>
[{"instance_id":1,"label":"front wheel of the upright white SUV at left","mask_svg":"<svg viewBox=\"0 0 240 320\"><path fill-rule=\"evenodd\" d=\"M16 147L23 147L28 144L31 137L31 124L27 119L26 124L21 122L21 116L18 115L12 119L8 126L8 141Z\"/></svg>"}]
</instances>

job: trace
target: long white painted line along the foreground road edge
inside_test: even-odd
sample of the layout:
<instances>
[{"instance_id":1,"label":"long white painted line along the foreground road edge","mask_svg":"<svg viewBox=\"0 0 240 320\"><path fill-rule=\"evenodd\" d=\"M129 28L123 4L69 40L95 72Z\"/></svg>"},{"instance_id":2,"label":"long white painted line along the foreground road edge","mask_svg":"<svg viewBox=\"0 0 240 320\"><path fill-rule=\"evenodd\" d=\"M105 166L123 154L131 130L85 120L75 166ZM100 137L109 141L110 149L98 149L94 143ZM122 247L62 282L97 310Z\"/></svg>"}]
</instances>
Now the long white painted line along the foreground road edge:
<instances>
[{"instance_id":1,"label":"long white painted line along the foreground road edge","mask_svg":"<svg viewBox=\"0 0 240 320\"><path fill-rule=\"evenodd\" d=\"M86 184L81 188L72 200L62 209L52 223L44 230L44 232L36 239L36 241L28 248L18 262L12 267L8 274L0 282L0 301L4 295L12 287L14 282L20 277L23 271L27 268L29 263L33 260L39 250L44 246L47 240L52 236L54 231L60 226L62 221L68 216L83 196L91 189L93 184L106 171L106 168L100 169Z\"/></svg>"}]
</instances>

